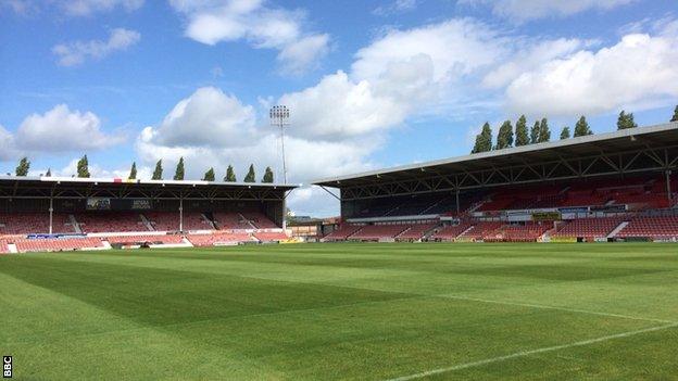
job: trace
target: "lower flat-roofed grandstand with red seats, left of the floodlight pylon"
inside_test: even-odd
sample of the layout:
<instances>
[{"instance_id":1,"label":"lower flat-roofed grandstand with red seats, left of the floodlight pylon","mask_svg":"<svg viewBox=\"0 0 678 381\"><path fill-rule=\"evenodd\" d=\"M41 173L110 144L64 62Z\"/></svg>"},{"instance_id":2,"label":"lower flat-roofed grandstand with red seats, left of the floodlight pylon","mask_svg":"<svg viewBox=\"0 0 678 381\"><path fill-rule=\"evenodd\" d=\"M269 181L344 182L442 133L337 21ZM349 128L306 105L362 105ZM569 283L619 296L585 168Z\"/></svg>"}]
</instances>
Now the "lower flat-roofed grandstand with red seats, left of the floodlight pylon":
<instances>
[{"instance_id":1,"label":"lower flat-roofed grandstand with red seats, left of the floodlight pylon","mask_svg":"<svg viewBox=\"0 0 678 381\"><path fill-rule=\"evenodd\" d=\"M294 186L0 177L0 253L279 242Z\"/></svg>"}]
</instances>

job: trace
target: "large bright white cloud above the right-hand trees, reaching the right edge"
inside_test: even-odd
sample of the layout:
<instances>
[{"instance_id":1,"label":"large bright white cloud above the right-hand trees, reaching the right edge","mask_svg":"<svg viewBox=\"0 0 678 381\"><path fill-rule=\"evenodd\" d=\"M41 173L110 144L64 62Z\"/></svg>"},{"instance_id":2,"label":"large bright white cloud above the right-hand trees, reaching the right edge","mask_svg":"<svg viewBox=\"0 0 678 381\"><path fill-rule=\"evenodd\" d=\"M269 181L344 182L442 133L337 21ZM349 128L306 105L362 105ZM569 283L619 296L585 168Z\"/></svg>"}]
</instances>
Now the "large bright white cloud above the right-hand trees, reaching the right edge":
<instances>
[{"instance_id":1,"label":"large bright white cloud above the right-hand trees, reaching the right edge","mask_svg":"<svg viewBox=\"0 0 678 381\"><path fill-rule=\"evenodd\" d=\"M668 24L598 51L580 50L523 73L508 85L511 110L547 115L616 111L678 97L678 35Z\"/></svg>"}]
</instances>

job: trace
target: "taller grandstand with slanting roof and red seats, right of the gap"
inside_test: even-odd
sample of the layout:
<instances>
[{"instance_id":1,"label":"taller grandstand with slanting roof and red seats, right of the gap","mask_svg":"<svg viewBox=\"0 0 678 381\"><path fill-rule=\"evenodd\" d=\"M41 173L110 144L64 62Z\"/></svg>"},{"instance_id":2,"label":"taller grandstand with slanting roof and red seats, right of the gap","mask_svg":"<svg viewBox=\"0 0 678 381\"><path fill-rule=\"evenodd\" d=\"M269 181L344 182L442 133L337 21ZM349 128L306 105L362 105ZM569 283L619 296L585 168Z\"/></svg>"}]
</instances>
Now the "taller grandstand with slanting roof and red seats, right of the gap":
<instances>
[{"instance_id":1,"label":"taller grandstand with slanting roof and red seats, right of the gap","mask_svg":"<svg viewBox=\"0 0 678 381\"><path fill-rule=\"evenodd\" d=\"M325 241L678 239L678 123L314 181L340 191Z\"/></svg>"}]
</instances>

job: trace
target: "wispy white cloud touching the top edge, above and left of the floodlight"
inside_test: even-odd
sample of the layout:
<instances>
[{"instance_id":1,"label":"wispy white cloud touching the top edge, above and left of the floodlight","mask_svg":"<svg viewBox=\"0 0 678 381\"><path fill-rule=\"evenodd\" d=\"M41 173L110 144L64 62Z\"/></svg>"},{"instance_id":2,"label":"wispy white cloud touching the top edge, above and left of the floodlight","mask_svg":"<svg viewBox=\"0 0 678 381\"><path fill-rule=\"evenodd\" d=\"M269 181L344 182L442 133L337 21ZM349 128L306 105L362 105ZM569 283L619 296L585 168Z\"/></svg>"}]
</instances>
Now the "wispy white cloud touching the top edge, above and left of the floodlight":
<instances>
[{"instance_id":1,"label":"wispy white cloud touching the top edge, above and left of the floodlight","mask_svg":"<svg viewBox=\"0 0 678 381\"><path fill-rule=\"evenodd\" d=\"M327 54L329 36L303 30L301 11L273 9L262 0L171 0L187 20L187 37L205 45L246 40L275 49L282 69L301 73Z\"/></svg>"}]
</instances>

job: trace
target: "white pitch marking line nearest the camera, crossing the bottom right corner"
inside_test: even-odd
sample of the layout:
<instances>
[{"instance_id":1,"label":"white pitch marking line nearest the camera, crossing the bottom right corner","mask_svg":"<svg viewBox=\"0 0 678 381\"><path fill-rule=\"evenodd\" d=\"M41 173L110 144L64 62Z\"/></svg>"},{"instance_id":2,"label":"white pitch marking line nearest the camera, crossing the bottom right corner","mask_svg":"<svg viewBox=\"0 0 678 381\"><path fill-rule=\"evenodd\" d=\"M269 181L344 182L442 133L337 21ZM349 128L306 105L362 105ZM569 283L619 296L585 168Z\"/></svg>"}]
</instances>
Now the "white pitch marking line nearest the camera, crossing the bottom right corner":
<instances>
[{"instance_id":1,"label":"white pitch marking line nearest the camera, crossing the bottom right corner","mask_svg":"<svg viewBox=\"0 0 678 381\"><path fill-rule=\"evenodd\" d=\"M482 365L500 363L500 361L504 361L504 360L508 360L508 359L513 359L513 358L536 355L536 354L540 354L540 353L544 353L544 352L553 352L553 351L560 351L560 350L566 350L566 348L570 348L570 347L576 347L576 346L585 346L585 345L595 344L595 343L600 343L600 342L607 341L607 340L628 338L628 336L632 336L632 335L636 335L636 334L641 334L641 333L646 333L646 332L654 332L654 331L661 331L661 330L675 328L675 327L678 327L678 322L677 323L671 323L671 325L666 325L666 326L639 329L639 330L636 330L636 331L628 331L628 332L623 332L623 333L610 334L610 335L602 336L602 338L589 339L589 340L578 341L578 342L574 342L574 343L569 343L569 344L547 346L547 347L537 348L537 350L529 350L529 351L520 351L520 352L513 353L511 355L492 357L492 358L486 358L486 359L482 359L482 360L473 361L473 363L466 363L466 364L460 364L460 365L451 366L451 367L448 367L448 368L438 368L438 369L427 370L427 371L423 371L420 373L414 373L414 374L410 374L410 376L403 376L403 377L398 377L398 378L394 378L394 379L389 379L387 381L417 380L417 379L420 379L420 378L424 378L424 377L447 373L447 372L454 371L454 370L462 370L462 369L467 369L467 368L479 367L479 366L482 366Z\"/></svg>"}]
</instances>

